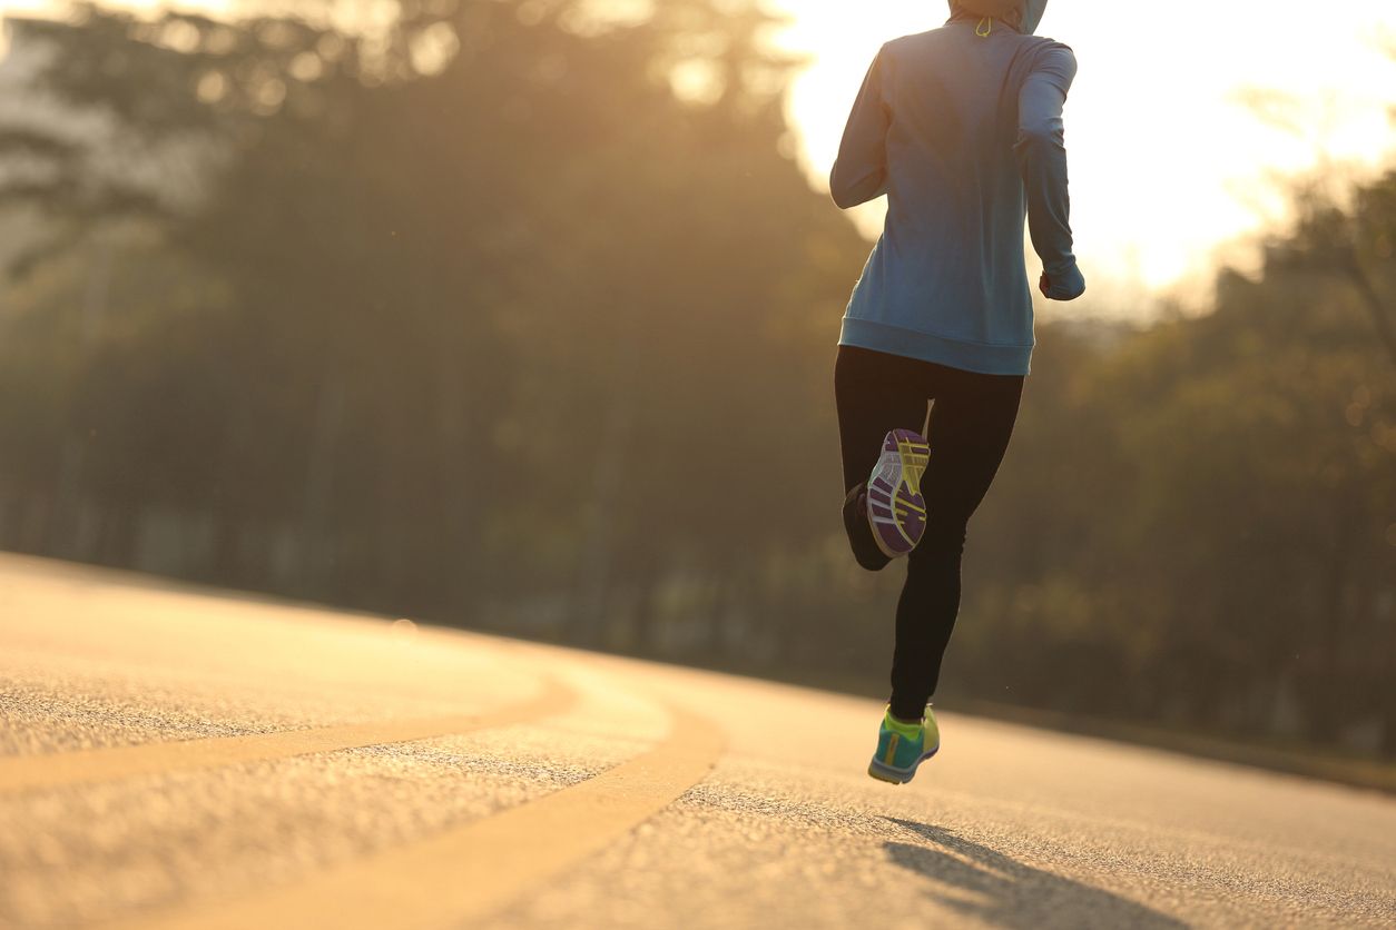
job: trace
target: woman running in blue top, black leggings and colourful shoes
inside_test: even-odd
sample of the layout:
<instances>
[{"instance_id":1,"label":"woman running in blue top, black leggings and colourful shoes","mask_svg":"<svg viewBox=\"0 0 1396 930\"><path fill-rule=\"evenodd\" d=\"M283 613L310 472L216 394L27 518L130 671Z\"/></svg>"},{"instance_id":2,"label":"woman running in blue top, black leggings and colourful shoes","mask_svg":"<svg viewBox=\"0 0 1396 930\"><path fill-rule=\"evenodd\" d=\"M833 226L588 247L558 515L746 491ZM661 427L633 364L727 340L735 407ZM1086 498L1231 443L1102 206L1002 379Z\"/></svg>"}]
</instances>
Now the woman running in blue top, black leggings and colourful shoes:
<instances>
[{"instance_id":1,"label":"woman running in blue top, black leggings and colourful shoes","mask_svg":"<svg viewBox=\"0 0 1396 930\"><path fill-rule=\"evenodd\" d=\"M1033 36L1047 0L949 6L942 28L878 52L829 177L845 209L888 195L833 378L853 555L871 572L907 556L892 697L868 767L893 784L940 749L928 701L959 612L966 527L1029 371L1025 216L1041 293L1086 289L1061 120L1076 59Z\"/></svg>"}]
</instances>

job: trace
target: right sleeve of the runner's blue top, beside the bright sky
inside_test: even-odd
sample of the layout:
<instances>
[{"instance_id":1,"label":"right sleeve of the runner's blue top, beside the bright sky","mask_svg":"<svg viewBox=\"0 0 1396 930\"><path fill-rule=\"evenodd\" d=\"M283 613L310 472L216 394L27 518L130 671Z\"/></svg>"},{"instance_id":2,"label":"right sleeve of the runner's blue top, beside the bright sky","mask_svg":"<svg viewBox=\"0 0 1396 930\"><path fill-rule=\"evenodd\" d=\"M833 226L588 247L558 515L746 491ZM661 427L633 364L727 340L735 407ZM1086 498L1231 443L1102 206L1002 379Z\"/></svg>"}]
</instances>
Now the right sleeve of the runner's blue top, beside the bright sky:
<instances>
[{"instance_id":1,"label":"right sleeve of the runner's blue top, beside the bright sky","mask_svg":"<svg viewBox=\"0 0 1396 930\"><path fill-rule=\"evenodd\" d=\"M1018 170L1027 191L1027 231L1047 275L1051 300L1086 290L1071 238L1067 145L1061 112L1076 77L1076 56L1064 45L1044 47L1018 96Z\"/></svg>"}]
</instances>

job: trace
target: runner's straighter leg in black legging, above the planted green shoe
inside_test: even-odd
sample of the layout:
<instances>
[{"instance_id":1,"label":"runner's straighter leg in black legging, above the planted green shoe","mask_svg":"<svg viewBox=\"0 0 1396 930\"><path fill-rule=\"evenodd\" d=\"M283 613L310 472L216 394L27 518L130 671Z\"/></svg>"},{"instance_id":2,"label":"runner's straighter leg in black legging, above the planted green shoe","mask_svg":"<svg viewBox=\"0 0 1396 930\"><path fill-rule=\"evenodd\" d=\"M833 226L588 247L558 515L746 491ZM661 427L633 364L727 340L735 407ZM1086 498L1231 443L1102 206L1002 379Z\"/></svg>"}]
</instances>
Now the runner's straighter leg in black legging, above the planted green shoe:
<instances>
[{"instance_id":1,"label":"runner's straighter leg in black legging, above the planted green shoe","mask_svg":"<svg viewBox=\"0 0 1396 930\"><path fill-rule=\"evenodd\" d=\"M892 714L921 718L935 693L941 658L960 602L960 558L974 514L1018 420L1023 378L941 368L931 410L931 462L921 481L926 535L906 566L896 608Z\"/></svg>"}]
</instances>

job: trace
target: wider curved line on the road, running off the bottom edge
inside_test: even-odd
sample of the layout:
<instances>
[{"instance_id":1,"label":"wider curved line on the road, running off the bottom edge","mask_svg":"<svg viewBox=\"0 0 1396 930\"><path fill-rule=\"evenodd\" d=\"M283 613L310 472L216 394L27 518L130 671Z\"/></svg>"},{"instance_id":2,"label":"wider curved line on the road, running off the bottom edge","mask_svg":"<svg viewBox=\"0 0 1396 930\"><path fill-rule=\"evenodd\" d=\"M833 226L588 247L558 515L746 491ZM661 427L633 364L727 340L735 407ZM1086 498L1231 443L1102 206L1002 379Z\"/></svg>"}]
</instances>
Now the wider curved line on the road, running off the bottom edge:
<instances>
[{"instance_id":1,"label":"wider curved line on the road, running off the bottom edge","mask_svg":"<svg viewBox=\"0 0 1396 930\"><path fill-rule=\"evenodd\" d=\"M722 756L723 736L699 717L670 712L663 743L579 785L295 885L103 927L461 926L620 839L704 779Z\"/></svg>"}]
</instances>

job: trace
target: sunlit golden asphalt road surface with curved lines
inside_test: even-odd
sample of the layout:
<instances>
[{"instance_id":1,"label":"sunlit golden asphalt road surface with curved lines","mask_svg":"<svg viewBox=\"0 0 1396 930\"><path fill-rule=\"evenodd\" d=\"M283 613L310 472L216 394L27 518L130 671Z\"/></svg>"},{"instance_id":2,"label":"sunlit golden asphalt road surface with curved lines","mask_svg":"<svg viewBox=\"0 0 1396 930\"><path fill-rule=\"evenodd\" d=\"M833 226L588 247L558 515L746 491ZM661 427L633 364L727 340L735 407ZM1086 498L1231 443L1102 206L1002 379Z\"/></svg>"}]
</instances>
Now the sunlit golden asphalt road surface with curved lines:
<instances>
[{"instance_id":1,"label":"sunlit golden asphalt road surface with curved lines","mask_svg":"<svg viewBox=\"0 0 1396 930\"><path fill-rule=\"evenodd\" d=\"M1396 800L0 556L4 927L1396 926Z\"/></svg>"}]
</instances>

